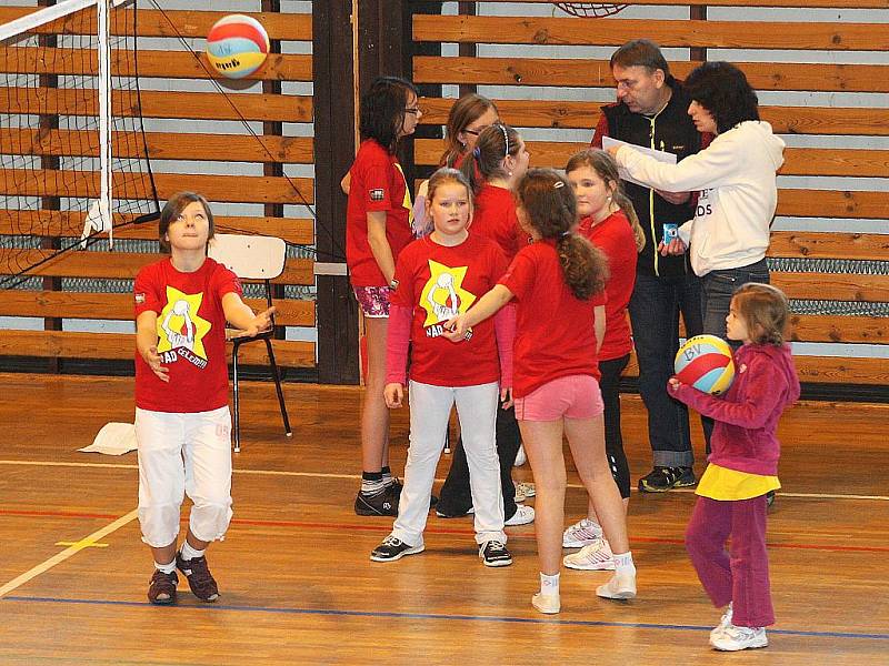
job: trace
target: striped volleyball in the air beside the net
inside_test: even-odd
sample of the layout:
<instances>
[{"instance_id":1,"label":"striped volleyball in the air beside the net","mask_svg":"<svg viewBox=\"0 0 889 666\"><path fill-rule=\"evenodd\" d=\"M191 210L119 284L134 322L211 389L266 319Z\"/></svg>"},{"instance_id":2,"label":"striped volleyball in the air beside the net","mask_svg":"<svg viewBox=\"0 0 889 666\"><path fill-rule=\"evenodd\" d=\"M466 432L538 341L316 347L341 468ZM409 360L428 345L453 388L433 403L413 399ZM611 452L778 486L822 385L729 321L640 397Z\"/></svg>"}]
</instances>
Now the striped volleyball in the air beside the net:
<instances>
[{"instance_id":1,"label":"striped volleyball in the air beside the net","mask_svg":"<svg viewBox=\"0 0 889 666\"><path fill-rule=\"evenodd\" d=\"M243 14L219 19L207 36L207 58L228 79L252 74L266 62L270 48L262 23Z\"/></svg>"}]
</instances>

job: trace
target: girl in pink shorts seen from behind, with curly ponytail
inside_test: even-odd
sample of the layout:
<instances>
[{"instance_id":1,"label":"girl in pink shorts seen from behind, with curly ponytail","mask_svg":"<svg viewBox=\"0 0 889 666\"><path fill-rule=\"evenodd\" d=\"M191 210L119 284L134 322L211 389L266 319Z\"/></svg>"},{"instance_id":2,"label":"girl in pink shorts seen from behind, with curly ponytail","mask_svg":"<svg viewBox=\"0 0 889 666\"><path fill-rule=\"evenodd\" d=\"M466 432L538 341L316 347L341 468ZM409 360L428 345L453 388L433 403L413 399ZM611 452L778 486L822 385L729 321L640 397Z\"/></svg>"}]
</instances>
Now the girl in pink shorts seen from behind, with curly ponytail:
<instances>
[{"instance_id":1,"label":"girl in pink shorts seen from behind, with curly ponytail","mask_svg":"<svg viewBox=\"0 0 889 666\"><path fill-rule=\"evenodd\" d=\"M537 485L540 559L540 592L531 603L541 613L558 613L566 487L562 435L615 551L615 576L597 594L636 596L623 505L605 454L597 381L608 266L605 255L573 232L577 200L558 172L532 169L519 182L517 196L519 222L535 242L519 251L497 286L446 326L457 341L513 297L518 303L512 390Z\"/></svg>"}]
</instances>

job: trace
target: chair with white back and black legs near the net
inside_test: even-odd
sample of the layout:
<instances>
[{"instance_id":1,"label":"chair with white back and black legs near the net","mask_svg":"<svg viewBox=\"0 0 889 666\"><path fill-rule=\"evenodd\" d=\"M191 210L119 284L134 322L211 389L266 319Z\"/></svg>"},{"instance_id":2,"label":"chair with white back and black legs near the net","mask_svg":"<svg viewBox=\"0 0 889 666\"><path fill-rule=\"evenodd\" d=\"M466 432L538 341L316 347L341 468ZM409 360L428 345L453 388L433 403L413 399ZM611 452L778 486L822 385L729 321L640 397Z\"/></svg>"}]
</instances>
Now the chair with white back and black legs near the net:
<instances>
[{"instance_id":1,"label":"chair with white back and black legs near the net","mask_svg":"<svg viewBox=\"0 0 889 666\"><path fill-rule=\"evenodd\" d=\"M242 280L262 280L266 286L266 302L271 307L271 281L278 278L284 270L284 258L287 245L281 239L260 235L240 235L230 233L214 234L210 240L208 256L214 259L238 278ZM274 350L271 339L274 334L274 317L272 316L272 327L263 333L249 337L232 337L232 385L234 394L234 452L241 451L241 427L240 427L240 395L238 391L238 350L241 345L266 341L266 350L269 354L271 374L274 379L274 389L278 391L278 403L281 405L281 418L284 422L284 433L288 437L293 435L290 430L290 420L287 416L284 405L284 394L281 391L281 376L278 372L278 364L274 361Z\"/></svg>"}]
</instances>

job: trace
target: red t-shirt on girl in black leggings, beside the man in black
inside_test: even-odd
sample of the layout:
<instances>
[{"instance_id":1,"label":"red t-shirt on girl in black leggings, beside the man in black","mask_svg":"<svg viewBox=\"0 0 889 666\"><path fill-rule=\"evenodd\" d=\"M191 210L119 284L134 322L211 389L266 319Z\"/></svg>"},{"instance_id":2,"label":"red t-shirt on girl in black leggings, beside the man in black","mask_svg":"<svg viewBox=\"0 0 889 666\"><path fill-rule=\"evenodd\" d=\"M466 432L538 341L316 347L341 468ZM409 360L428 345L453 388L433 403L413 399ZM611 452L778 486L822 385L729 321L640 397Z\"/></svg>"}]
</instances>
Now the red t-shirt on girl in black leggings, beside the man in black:
<instances>
[{"instance_id":1,"label":"red t-shirt on girl in black leggings, beside the man in black","mask_svg":"<svg viewBox=\"0 0 889 666\"><path fill-rule=\"evenodd\" d=\"M599 350L599 359L601 361L620 359L632 351L627 305L630 303L632 287L636 284L636 262L639 253L636 251L636 239L632 235L630 221L622 211L617 211L596 225L592 223L592 218L583 218L579 231L605 252L611 273L605 287L605 340Z\"/></svg>"}]
</instances>

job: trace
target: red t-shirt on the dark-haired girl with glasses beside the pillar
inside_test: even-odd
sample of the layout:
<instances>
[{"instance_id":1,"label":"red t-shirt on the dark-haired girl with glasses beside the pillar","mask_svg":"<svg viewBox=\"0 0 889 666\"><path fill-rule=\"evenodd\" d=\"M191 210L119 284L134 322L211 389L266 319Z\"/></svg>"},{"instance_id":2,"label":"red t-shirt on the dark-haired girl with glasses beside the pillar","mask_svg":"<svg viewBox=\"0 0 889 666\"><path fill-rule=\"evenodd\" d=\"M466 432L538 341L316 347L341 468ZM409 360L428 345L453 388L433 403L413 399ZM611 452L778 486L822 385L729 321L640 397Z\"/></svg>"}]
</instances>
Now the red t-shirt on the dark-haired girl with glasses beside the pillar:
<instances>
[{"instance_id":1,"label":"red t-shirt on the dark-haired girl with glasses beside the pillar","mask_svg":"<svg viewBox=\"0 0 889 666\"><path fill-rule=\"evenodd\" d=\"M346 211L346 263L353 286L387 286L368 243L368 213L386 213L386 239L392 259L413 239L411 202L398 159L368 139L361 142L349 170L349 204Z\"/></svg>"}]
</instances>

